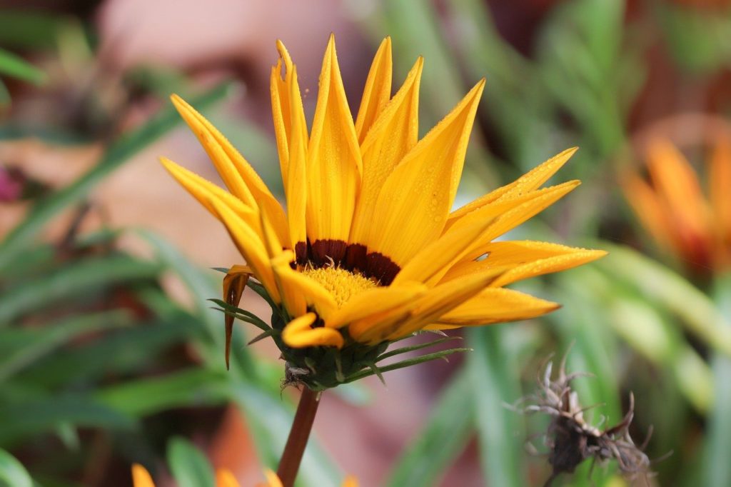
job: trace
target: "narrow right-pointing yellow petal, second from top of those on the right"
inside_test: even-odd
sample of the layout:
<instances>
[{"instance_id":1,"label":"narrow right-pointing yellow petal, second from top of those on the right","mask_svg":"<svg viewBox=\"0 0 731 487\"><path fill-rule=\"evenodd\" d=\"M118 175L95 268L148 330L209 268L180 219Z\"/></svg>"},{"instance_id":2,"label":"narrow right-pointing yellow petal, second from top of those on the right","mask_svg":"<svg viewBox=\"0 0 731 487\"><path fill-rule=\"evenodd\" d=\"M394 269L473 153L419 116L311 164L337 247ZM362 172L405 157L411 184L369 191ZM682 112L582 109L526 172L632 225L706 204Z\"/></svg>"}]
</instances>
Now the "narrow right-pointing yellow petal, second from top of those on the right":
<instances>
[{"instance_id":1,"label":"narrow right-pointing yellow petal, second from top of those on the right","mask_svg":"<svg viewBox=\"0 0 731 487\"><path fill-rule=\"evenodd\" d=\"M493 241L495 238L498 238L500 235L503 235L517 227L519 224L526 222L526 220L531 219L545 208L548 208L548 206L553 205L553 203L556 203L556 201L561 199L561 197L567 195L567 193L571 192L572 189L579 184L580 181L567 181L564 184L538 189L535 192L537 193L536 197L531 198L529 201L526 201L526 203L518 205L515 208L512 208L512 210L499 216L499 218L491 224L488 230L483 232L482 235L480 235L480 238L477 238L477 240L472 243L468 252L464 254L464 258L466 260L474 260L475 258L480 257L480 255L484 253L483 248L485 245Z\"/></svg>"}]
</instances>

